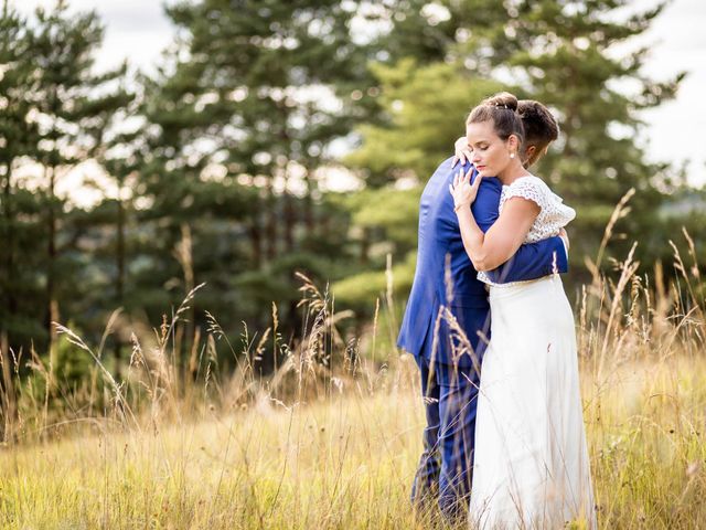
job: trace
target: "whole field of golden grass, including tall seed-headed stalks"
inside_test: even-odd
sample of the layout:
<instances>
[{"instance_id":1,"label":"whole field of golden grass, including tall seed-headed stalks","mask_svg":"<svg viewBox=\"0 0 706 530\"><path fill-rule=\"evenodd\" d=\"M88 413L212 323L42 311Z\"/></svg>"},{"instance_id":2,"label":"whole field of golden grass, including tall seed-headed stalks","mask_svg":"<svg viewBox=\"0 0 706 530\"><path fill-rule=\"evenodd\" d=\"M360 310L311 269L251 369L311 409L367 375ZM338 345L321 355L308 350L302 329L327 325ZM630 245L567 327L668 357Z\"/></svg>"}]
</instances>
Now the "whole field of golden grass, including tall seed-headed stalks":
<instances>
[{"instance_id":1,"label":"whole field of golden grass, including tall seed-headed stalks","mask_svg":"<svg viewBox=\"0 0 706 530\"><path fill-rule=\"evenodd\" d=\"M575 311L599 526L702 528L703 280L686 233L670 242L674 279L660 265L639 275L633 252L616 274L601 272L628 199L587 264L593 279ZM379 325L392 289L364 336L345 341L349 315L301 279L303 340L282 342L276 310L269 330L238 339L208 315L195 379L176 369L174 337L199 287L151 337L133 335L125 382L104 368L101 346L64 327L95 363L84 388L62 394L34 353L26 381L11 377L26 360L4 362L3 389L14 380L15 390L0 396L2 528L428 528L408 501L424 426L417 370L408 356L374 351L394 332ZM237 359L235 373L218 367L217 343ZM274 351L284 362L259 377L254 362Z\"/></svg>"}]
</instances>

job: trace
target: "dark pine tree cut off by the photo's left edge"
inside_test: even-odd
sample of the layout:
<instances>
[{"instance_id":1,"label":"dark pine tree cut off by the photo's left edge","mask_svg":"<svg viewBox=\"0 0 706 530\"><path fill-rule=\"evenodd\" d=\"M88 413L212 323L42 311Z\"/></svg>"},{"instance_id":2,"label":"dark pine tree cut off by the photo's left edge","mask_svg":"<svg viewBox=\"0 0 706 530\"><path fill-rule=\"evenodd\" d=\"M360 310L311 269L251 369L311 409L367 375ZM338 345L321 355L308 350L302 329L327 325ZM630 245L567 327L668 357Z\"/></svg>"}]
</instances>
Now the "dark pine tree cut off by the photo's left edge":
<instances>
[{"instance_id":1,"label":"dark pine tree cut off by the photo's left edge","mask_svg":"<svg viewBox=\"0 0 706 530\"><path fill-rule=\"evenodd\" d=\"M30 271L35 265L31 254L22 253L26 242L36 236L36 201L13 182L17 161L35 149L36 124L28 119L33 64L26 20L2 2L0 18L0 439L12 434L8 426L17 415L14 374L21 344L29 343L33 320L24 311L39 295L39 285ZM41 332L41 329L39 330ZM11 350L14 356L11 353Z\"/></svg>"}]
</instances>

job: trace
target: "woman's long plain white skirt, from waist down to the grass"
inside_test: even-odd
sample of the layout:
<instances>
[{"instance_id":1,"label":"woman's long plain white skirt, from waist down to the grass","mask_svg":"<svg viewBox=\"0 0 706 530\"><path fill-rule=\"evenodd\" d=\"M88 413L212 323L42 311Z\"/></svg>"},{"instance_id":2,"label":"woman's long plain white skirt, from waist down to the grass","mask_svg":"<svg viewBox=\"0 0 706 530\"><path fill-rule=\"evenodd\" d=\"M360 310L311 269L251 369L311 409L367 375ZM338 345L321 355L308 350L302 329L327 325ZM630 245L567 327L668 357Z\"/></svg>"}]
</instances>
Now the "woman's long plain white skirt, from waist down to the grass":
<instances>
[{"instance_id":1,"label":"woman's long plain white skirt, from waist down to the grass","mask_svg":"<svg viewBox=\"0 0 706 530\"><path fill-rule=\"evenodd\" d=\"M596 528L574 315L558 275L491 287L470 527Z\"/></svg>"}]
</instances>

